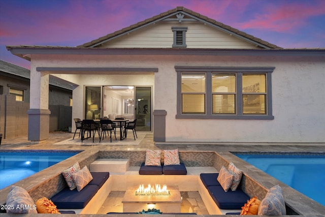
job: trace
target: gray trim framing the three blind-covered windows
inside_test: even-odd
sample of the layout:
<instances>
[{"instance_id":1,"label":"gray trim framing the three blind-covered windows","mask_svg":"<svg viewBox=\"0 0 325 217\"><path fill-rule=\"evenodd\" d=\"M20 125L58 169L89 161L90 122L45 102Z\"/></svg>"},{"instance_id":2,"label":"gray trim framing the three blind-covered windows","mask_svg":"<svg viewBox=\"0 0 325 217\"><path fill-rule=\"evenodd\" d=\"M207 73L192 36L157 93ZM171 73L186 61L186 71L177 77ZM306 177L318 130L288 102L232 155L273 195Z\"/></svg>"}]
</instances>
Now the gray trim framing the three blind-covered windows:
<instances>
[{"instance_id":1,"label":"gray trim framing the three blind-covered windows","mask_svg":"<svg viewBox=\"0 0 325 217\"><path fill-rule=\"evenodd\" d=\"M271 74L275 67L187 67L187 66L175 66L175 71L177 73L177 119L274 119L272 115L272 82ZM205 72L207 74L206 78L206 114L182 114L181 112L181 73L197 73ZM237 95L236 95L236 109L237 114L234 115L220 115L212 114L212 91L211 91L211 74L213 72L235 72L237 74L236 85L237 85ZM267 75L267 114L261 115L243 115L242 111L242 100L239 99L242 96L242 89L239 88L242 85L242 74L244 73L266 73ZM239 76L238 76L239 75Z\"/></svg>"}]
</instances>

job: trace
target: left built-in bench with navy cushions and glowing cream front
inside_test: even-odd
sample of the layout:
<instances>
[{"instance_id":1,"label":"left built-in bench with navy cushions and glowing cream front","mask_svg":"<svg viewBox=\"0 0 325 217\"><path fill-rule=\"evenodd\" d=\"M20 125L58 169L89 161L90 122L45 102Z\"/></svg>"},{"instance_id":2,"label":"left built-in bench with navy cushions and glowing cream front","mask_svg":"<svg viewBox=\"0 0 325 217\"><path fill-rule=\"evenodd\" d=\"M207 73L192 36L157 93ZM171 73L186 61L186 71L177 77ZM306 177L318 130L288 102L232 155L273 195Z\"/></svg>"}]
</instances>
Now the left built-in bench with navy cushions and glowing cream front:
<instances>
[{"instance_id":1,"label":"left built-in bench with navy cushions and glowing cream front","mask_svg":"<svg viewBox=\"0 0 325 217\"><path fill-rule=\"evenodd\" d=\"M109 172L90 172L93 179L80 191L70 190L69 187L54 195L51 200L59 210L76 210L76 213L93 213L96 206L101 206L111 191L111 184L108 183ZM109 186L110 185L110 186ZM103 198L103 199L101 199ZM100 201L98 200L100 199ZM94 201L90 203L91 201ZM99 204L100 203L100 204ZM98 205L99 204L99 205ZM86 206L88 209L85 209ZM99 209L99 208L98 208Z\"/></svg>"}]
</instances>

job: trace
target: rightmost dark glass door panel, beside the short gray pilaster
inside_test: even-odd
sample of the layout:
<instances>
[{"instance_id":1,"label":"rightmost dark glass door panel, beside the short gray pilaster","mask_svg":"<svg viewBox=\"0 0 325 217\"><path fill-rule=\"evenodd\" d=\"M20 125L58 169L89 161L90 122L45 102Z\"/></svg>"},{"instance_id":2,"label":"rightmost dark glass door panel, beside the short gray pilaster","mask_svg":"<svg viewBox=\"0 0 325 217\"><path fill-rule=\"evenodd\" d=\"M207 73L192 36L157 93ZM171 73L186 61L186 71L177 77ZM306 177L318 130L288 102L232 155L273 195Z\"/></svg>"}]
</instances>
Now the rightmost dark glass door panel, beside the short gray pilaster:
<instances>
[{"instance_id":1,"label":"rightmost dark glass door panel, beside the short gray pilaster","mask_svg":"<svg viewBox=\"0 0 325 217\"><path fill-rule=\"evenodd\" d=\"M137 131L151 131L151 87L135 87Z\"/></svg>"}]
</instances>

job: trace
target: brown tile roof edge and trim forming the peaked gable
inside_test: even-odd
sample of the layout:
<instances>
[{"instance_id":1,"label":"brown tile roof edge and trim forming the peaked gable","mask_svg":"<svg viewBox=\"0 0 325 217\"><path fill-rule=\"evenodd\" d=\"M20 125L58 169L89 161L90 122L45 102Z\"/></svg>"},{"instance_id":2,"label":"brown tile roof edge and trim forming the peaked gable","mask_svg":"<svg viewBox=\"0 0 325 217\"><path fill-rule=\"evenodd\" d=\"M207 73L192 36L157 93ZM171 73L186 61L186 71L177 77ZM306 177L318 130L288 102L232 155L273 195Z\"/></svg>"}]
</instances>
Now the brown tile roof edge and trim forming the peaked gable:
<instances>
[{"instance_id":1,"label":"brown tile roof edge and trim forming the peaked gable","mask_svg":"<svg viewBox=\"0 0 325 217\"><path fill-rule=\"evenodd\" d=\"M274 45L274 44L271 44L271 43L269 43L269 42L267 42L267 41L264 41L264 40L262 40L262 39L256 38L256 37L254 37L254 36L252 36L252 35L246 34L246 33L242 32L242 31L240 31L239 29L233 28L233 27L231 27L231 26L229 26L229 25L225 25L225 24L223 24L223 23L221 23L221 22L218 22L218 21L216 21L216 20L214 20L214 19L211 19L211 18L206 17L206 16L204 16L204 15L201 15L201 14L199 14L199 13L193 12L193 11L191 11L191 10L189 10L189 9L184 8L184 7L177 7L177 8L174 8L174 9L172 9L172 10L169 10L169 11L167 11L167 12L164 12L164 13L158 14L158 15L156 15L156 16L153 16L153 17L151 17L151 18L149 18L149 19L146 19L146 20L140 21L140 22L138 22L138 23L136 23L136 24L133 24L133 25L130 25L130 26L128 26L128 27L122 28L122 29L120 29L120 30L117 30L117 31L114 32L114 33L111 33L111 34L108 34L108 35L103 36L103 37L101 37L101 38L95 39L95 40L93 40L93 41L91 41L91 42L84 43L84 44L79 45L79 46L77 46L77 47L90 47L90 46L93 46L93 45L98 44L98 43L100 43L100 42L102 42L102 41L104 41L104 40L110 39L110 38L112 38L112 37L116 37L116 36L118 36L118 35L120 35L120 34L123 34L123 33L125 33L125 32L130 31L130 30L133 30L133 29L135 29L135 28L139 28L139 27L141 27L141 26L143 26L143 25L145 25L145 24L148 24L148 23L150 23L150 22L153 22L153 21L155 21L155 20L158 20L158 19L161 19L161 18L164 18L164 17L166 18L166 17L168 17L168 16L170 16L170 15L172 15L173 13L178 12L178 11L186 12L186 13L189 14L189 15L195 16L195 17L197 17L198 19L205 21L207 24L210 23L210 24L213 24L213 25L217 25L218 27L220 27L220 28L222 28L222 29L225 29L225 30L228 30L228 31L230 31L230 32L233 32L234 34L237 34L237 35L239 35L239 36L245 37L245 38L247 38L247 39L249 39L249 40L252 40L252 41L254 41L254 42L256 42L256 43L263 44L263 45L265 45L265 46L267 46L267 47L270 47L270 48L282 49L281 47L278 47L278 46L276 46L276 45Z\"/></svg>"}]
</instances>

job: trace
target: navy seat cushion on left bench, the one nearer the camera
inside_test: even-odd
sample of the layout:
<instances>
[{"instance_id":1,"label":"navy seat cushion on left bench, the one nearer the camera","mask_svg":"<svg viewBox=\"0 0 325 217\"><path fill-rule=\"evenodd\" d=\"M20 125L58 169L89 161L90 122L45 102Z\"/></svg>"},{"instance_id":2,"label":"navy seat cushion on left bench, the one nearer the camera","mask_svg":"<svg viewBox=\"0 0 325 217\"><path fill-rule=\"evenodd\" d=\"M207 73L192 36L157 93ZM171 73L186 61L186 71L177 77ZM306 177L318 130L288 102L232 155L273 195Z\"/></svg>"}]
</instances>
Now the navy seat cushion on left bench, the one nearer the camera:
<instances>
[{"instance_id":1,"label":"navy seat cushion on left bench, the one nearer the camera","mask_svg":"<svg viewBox=\"0 0 325 217\"><path fill-rule=\"evenodd\" d=\"M89 184L80 192L77 189L71 191L67 187L54 195L51 200L58 209L82 209L89 203L98 190L98 185Z\"/></svg>"}]
</instances>

